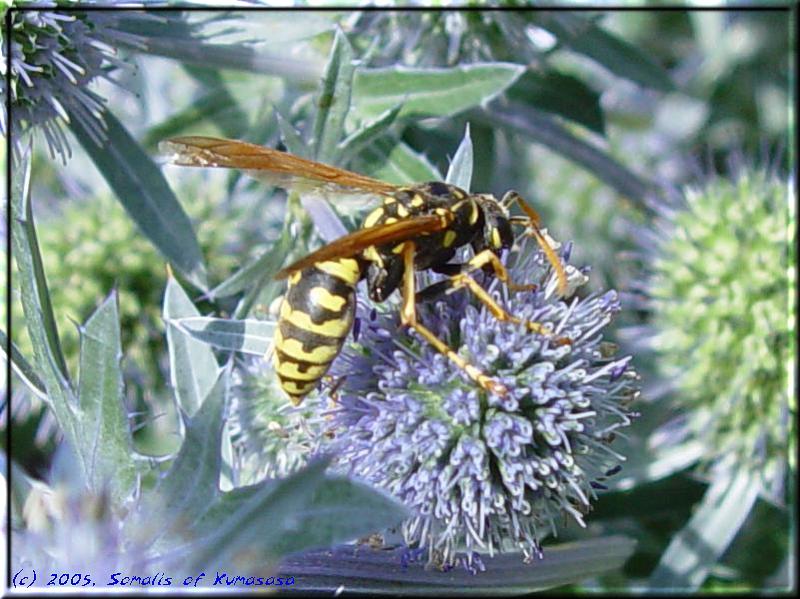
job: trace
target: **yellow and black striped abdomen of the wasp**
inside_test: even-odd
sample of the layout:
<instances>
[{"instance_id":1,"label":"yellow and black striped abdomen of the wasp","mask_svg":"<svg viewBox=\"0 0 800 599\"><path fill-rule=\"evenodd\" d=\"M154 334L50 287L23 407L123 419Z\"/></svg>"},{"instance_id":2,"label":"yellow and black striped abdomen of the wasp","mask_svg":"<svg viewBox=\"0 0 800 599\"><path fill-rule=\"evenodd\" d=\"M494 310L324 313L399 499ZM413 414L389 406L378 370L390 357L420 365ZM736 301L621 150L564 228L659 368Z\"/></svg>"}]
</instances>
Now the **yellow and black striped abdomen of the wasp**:
<instances>
[{"instance_id":1,"label":"yellow and black striped abdomen of the wasp","mask_svg":"<svg viewBox=\"0 0 800 599\"><path fill-rule=\"evenodd\" d=\"M281 388L295 405L310 393L339 355L353 326L361 278L352 258L319 262L289 278L274 338Z\"/></svg>"}]
</instances>

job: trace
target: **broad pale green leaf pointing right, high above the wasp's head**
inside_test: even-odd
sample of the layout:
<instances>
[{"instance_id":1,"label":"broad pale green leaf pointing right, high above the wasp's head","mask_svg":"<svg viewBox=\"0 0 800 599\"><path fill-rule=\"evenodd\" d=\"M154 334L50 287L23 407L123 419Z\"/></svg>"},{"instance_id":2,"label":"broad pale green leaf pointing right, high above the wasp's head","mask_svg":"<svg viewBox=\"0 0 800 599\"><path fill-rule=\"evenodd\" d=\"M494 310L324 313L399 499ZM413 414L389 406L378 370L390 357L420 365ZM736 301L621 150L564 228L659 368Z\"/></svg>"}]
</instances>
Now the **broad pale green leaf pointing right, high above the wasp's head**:
<instances>
[{"instance_id":1,"label":"broad pale green leaf pointing right, high above the wasp's head","mask_svg":"<svg viewBox=\"0 0 800 599\"><path fill-rule=\"evenodd\" d=\"M448 69L359 69L353 110L366 120L402 103L400 117L452 116L502 94L524 71L522 65L503 62Z\"/></svg>"}]
</instances>

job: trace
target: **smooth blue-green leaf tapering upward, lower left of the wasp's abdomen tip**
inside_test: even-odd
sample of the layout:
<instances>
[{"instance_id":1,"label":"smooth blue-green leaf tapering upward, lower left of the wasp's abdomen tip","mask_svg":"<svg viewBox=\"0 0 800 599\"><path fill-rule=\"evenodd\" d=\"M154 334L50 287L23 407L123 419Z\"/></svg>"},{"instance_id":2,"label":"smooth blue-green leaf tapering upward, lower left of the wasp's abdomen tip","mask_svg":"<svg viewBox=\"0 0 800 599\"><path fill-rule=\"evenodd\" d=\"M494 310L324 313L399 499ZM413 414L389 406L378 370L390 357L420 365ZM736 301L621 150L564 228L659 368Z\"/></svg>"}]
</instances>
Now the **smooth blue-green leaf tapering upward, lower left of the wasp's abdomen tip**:
<instances>
[{"instance_id":1,"label":"smooth blue-green leaf tapering upward, lower left of the wasp's abdomen tip","mask_svg":"<svg viewBox=\"0 0 800 599\"><path fill-rule=\"evenodd\" d=\"M220 442L229 381L230 368L221 369L200 409L187 420L183 444L169 470L126 523L131 532L152 526L154 520L160 523L150 536L154 551L184 543L186 531L220 495Z\"/></svg>"}]
</instances>

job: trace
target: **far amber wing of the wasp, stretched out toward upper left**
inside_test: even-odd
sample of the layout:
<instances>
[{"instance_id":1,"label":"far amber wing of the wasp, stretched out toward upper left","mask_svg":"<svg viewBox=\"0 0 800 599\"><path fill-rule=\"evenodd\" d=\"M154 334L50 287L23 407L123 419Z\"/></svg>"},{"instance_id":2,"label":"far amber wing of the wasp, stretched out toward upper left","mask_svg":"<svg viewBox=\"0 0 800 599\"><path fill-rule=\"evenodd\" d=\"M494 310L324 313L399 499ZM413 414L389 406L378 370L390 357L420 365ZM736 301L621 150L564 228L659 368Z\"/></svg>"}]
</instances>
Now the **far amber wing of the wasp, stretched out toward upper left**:
<instances>
[{"instance_id":1,"label":"far amber wing of the wasp, stretched out toward upper left","mask_svg":"<svg viewBox=\"0 0 800 599\"><path fill-rule=\"evenodd\" d=\"M396 185L321 162L243 141L216 137L176 137L159 150L179 166L237 168L276 187L300 193L385 195Z\"/></svg>"}]
</instances>

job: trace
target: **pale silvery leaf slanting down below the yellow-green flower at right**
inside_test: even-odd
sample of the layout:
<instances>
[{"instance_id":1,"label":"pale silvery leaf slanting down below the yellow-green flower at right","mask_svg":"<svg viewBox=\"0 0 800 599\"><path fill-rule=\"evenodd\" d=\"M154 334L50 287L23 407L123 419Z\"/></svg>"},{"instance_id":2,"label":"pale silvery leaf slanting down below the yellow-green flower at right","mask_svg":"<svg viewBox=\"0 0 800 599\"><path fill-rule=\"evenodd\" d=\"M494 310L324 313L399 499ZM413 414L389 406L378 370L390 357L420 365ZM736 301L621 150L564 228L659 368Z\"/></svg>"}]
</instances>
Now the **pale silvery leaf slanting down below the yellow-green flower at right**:
<instances>
[{"instance_id":1,"label":"pale silvery leaf slanting down below the yellow-green flower at right","mask_svg":"<svg viewBox=\"0 0 800 599\"><path fill-rule=\"evenodd\" d=\"M696 591L744 524L761 491L761 473L717 476L650 576L654 591Z\"/></svg>"}]
</instances>

